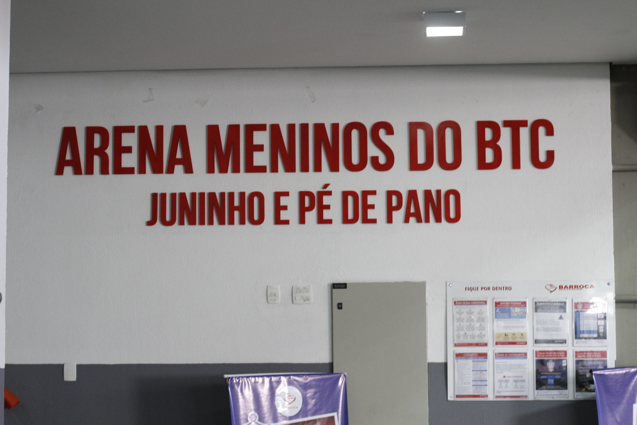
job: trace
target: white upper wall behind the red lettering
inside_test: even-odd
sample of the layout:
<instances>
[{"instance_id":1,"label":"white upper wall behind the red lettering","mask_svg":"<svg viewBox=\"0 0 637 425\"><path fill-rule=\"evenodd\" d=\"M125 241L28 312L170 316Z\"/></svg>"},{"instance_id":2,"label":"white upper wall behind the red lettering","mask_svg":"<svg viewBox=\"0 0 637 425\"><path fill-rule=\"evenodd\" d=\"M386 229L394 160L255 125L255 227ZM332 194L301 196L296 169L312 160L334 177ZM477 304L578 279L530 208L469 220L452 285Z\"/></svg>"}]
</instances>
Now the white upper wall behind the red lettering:
<instances>
[{"instance_id":1,"label":"white upper wall behind the red lettering","mask_svg":"<svg viewBox=\"0 0 637 425\"><path fill-rule=\"evenodd\" d=\"M327 362L329 283L366 280L427 280L429 361L445 361L447 280L613 278L609 103L604 64L13 75L7 361ZM510 169L503 129L503 165L476 169L476 120L540 118L555 127L541 142L551 168L531 166L524 131L522 169ZM448 119L462 166L407 171L407 123ZM206 124L356 120L392 123L393 169L205 173ZM78 127L83 152L85 126L155 124L188 126L193 175L54 176L63 126ZM271 203L262 226L145 226L151 192L271 202L327 183L334 219L343 190L452 188L462 219L385 224L378 196L376 225L300 226L292 196L290 226L272 224ZM291 305L297 283L314 285L313 305ZM282 285L281 305L266 304L268 284Z\"/></svg>"}]
</instances>

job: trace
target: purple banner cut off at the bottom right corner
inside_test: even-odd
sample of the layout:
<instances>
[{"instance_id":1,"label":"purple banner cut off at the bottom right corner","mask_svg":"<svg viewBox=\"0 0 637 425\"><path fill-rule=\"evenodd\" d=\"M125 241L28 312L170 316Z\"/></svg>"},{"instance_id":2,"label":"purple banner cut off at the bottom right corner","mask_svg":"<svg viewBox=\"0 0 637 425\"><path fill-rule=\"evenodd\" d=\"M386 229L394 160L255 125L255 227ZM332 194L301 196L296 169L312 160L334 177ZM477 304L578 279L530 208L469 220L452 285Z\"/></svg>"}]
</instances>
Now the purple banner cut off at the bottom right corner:
<instances>
[{"instance_id":1,"label":"purple banner cut off at the bottom right corner","mask_svg":"<svg viewBox=\"0 0 637 425\"><path fill-rule=\"evenodd\" d=\"M599 425L635 425L637 368L594 370Z\"/></svg>"}]
</instances>

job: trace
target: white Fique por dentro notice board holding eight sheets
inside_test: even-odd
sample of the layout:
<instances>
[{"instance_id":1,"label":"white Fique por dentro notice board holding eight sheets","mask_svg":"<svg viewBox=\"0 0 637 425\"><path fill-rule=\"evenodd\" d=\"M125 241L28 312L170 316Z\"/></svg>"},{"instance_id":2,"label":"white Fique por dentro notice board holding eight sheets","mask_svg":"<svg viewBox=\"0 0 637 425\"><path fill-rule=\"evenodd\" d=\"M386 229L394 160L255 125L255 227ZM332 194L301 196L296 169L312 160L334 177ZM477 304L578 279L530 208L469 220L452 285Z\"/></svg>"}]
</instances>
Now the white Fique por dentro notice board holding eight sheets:
<instances>
[{"instance_id":1,"label":"white Fique por dentro notice board holding eight sheets","mask_svg":"<svg viewBox=\"0 0 637 425\"><path fill-rule=\"evenodd\" d=\"M447 282L449 400L586 400L615 367L612 280Z\"/></svg>"}]
</instances>

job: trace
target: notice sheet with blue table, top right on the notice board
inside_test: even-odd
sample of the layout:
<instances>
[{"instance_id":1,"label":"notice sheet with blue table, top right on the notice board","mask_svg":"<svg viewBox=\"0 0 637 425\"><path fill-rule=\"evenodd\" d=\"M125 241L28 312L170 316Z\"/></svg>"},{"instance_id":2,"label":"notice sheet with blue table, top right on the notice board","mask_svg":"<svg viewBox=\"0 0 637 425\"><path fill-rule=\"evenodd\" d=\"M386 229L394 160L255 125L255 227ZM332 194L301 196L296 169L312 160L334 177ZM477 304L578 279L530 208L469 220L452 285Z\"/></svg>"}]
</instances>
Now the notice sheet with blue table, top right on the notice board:
<instances>
[{"instance_id":1,"label":"notice sheet with blue table, top right on the notice board","mask_svg":"<svg viewBox=\"0 0 637 425\"><path fill-rule=\"evenodd\" d=\"M604 298L573 299L575 345L606 345L608 303Z\"/></svg>"}]
</instances>

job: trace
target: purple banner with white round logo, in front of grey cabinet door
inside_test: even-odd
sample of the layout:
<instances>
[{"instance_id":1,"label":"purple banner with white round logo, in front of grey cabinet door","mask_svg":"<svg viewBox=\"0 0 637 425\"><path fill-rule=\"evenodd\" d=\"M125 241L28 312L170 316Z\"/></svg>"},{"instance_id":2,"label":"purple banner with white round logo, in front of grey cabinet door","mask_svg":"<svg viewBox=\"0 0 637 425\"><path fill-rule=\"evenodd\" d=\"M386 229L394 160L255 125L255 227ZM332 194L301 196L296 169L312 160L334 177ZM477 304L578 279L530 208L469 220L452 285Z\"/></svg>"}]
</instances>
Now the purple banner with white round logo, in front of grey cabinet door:
<instances>
[{"instance_id":1,"label":"purple banner with white round logo, in front of grey cabinet door","mask_svg":"<svg viewBox=\"0 0 637 425\"><path fill-rule=\"evenodd\" d=\"M233 425L348 425L344 373L228 378Z\"/></svg>"}]
</instances>

